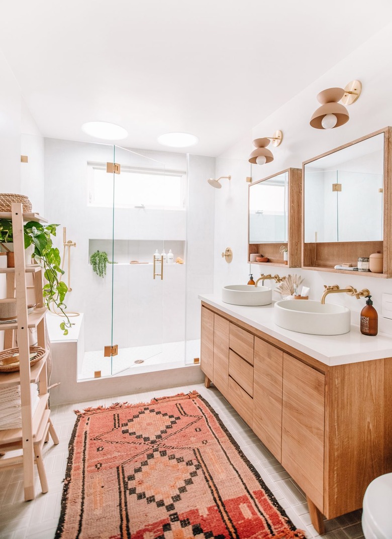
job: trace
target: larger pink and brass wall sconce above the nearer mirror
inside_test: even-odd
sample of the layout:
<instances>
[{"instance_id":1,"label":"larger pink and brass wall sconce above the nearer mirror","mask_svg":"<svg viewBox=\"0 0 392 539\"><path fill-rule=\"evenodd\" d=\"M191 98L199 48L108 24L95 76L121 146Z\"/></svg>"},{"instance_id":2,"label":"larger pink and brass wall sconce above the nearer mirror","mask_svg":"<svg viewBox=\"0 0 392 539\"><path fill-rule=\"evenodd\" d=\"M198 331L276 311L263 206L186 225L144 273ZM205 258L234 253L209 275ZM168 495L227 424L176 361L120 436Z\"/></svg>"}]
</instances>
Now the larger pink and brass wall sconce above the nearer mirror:
<instances>
[{"instance_id":1,"label":"larger pink and brass wall sconce above the nearer mirror","mask_svg":"<svg viewBox=\"0 0 392 539\"><path fill-rule=\"evenodd\" d=\"M362 84L359 80L352 80L345 88L328 88L317 95L321 103L313 113L310 125L315 129L333 129L348 122L349 115L343 105L352 105L359 98ZM341 103L338 103L341 101Z\"/></svg>"}]
</instances>

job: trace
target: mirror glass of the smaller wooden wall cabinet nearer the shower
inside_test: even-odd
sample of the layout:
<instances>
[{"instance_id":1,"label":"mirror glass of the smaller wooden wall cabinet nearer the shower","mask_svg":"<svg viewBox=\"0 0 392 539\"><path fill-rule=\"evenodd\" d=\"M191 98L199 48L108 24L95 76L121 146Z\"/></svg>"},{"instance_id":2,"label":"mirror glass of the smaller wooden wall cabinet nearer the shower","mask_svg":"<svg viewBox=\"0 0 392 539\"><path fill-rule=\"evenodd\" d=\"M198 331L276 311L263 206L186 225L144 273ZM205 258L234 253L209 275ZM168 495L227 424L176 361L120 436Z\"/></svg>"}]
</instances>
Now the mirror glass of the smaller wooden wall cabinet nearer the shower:
<instances>
[{"instance_id":1,"label":"mirror glass of the smaller wooden wall cabinet nearer the shower","mask_svg":"<svg viewBox=\"0 0 392 539\"><path fill-rule=\"evenodd\" d=\"M286 243L288 172L249 186L249 243Z\"/></svg>"}]
</instances>

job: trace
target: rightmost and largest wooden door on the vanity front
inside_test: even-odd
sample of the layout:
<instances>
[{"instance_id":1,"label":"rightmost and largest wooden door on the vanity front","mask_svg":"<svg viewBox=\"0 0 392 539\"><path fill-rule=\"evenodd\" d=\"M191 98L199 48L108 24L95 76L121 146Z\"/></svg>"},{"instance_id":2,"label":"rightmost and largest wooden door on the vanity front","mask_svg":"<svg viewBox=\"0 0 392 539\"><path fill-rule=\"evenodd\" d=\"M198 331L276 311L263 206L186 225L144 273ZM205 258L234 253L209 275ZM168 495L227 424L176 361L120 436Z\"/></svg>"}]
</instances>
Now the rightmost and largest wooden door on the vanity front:
<instances>
[{"instance_id":1,"label":"rightmost and largest wooden door on the vanity front","mask_svg":"<svg viewBox=\"0 0 392 539\"><path fill-rule=\"evenodd\" d=\"M325 375L283 355L281 464L323 512Z\"/></svg>"}]
</instances>

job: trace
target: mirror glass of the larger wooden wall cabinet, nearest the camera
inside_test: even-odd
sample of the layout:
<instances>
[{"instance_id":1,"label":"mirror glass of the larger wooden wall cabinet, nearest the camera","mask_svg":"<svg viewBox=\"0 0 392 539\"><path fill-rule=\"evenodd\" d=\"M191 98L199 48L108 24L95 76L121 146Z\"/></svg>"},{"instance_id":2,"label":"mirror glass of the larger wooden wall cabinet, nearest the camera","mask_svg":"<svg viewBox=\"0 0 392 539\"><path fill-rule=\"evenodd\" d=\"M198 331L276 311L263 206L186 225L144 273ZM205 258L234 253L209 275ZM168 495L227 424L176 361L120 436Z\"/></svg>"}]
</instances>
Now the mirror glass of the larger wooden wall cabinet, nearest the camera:
<instances>
[{"instance_id":1,"label":"mirror glass of the larger wooden wall cabinet, nearest the camera","mask_svg":"<svg viewBox=\"0 0 392 539\"><path fill-rule=\"evenodd\" d=\"M304 165L305 243L383 239L384 133Z\"/></svg>"}]
</instances>

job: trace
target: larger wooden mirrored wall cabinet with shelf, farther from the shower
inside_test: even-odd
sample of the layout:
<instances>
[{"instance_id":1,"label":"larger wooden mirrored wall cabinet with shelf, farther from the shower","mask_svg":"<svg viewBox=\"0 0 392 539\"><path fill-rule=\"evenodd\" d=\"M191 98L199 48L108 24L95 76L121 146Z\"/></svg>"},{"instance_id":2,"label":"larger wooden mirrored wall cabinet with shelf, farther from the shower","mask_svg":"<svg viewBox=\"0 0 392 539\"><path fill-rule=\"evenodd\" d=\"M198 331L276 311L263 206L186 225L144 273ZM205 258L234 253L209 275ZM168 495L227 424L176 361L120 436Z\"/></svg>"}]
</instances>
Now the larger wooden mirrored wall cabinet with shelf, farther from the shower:
<instances>
[{"instance_id":1,"label":"larger wooden mirrored wall cabinet with shelf, farther from the shower","mask_svg":"<svg viewBox=\"0 0 392 539\"><path fill-rule=\"evenodd\" d=\"M392 128L349 142L302 164L302 267L392 277ZM383 253L383 272L335 269Z\"/></svg>"}]
</instances>

